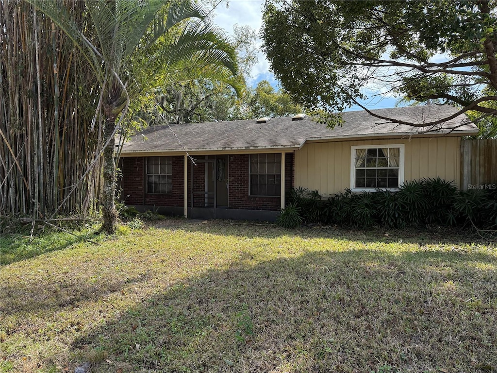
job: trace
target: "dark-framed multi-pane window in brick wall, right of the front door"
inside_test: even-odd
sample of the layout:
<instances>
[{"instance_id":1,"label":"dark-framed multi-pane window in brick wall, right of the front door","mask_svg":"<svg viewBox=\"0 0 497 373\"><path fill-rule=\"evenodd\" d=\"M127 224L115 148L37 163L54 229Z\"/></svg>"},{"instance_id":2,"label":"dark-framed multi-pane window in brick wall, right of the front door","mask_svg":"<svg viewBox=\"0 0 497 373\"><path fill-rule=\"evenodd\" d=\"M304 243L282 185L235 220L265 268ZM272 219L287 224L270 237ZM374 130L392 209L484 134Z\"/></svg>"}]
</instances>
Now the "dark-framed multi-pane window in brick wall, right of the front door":
<instances>
[{"instance_id":1,"label":"dark-framed multi-pane window in brick wall, right of the front door","mask_svg":"<svg viewBox=\"0 0 497 373\"><path fill-rule=\"evenodd\" d=\"M250 195L281 195L281 153L251 154Z\"/></svg>"}]
</instances>

